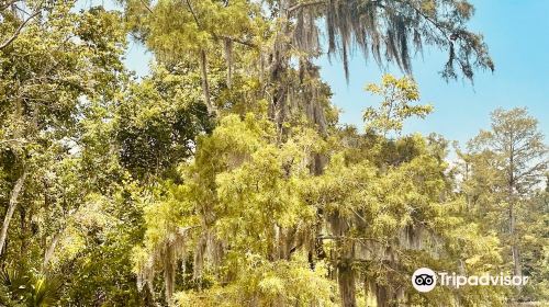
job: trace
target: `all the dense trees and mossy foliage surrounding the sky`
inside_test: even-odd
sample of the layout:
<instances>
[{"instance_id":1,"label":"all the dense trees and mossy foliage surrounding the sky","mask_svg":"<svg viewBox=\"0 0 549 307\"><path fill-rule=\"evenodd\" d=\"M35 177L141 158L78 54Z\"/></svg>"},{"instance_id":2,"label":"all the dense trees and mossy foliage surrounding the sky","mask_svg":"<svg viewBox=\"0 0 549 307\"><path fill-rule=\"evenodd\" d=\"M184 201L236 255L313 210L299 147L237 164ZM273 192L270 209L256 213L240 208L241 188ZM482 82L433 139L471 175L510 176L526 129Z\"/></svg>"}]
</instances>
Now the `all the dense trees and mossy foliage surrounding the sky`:
<instances>
[{"instance_id":1,"label":"all the dense trees and mossy foliage surrounding the sky","mask_svg":"<svg viewBox=\"0 0 549 307\"><path fill-rule=\"evenodd\" d=\"M426 46L448 53L442 79L472 80L494 64L466 26L470 3L119 4L0 1L0 306L549 299L537 121L495 110L453 149L403 135L433 106L411 77L386 75L367 86L379 105L361 132L338 124L315 65L327 53L348 78L358 48L410 76ZM128 37L154 55L144 78L122 62ZM531 282L421 294L421 266Z\"/></svg>"}]
</instances>

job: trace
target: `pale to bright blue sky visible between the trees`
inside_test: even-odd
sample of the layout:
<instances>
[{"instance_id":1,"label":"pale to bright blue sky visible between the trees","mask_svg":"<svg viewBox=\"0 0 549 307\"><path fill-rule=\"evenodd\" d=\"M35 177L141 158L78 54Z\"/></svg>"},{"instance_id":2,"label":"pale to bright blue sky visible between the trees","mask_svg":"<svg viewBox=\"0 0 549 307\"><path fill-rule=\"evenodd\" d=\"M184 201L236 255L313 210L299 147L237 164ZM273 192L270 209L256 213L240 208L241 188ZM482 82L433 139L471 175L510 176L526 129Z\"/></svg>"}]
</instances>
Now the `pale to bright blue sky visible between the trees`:
<instances>
[{"instance_id":1,"label":"pale to bright blue sky visible between the trees","mask_svg":"<svg viewBox=\"0 0 549 307\"><path fill-rule=\"evenodd\" d=\"M435 111L425 120L410 120L404 133L436 132L464 144L481 128L490 128L490 113L497 109L526 106L538 118L540 130L549 136L549 1L472 0L475 14L469 29L484 35L495 62L495 72L475 71L474 84L468 80L446 82L438 73L447 53L425 49L413 60L413 76L419 86L422 103ZM340 109L340 123L363 127L362 111L377 105L379 98L367 94L367 83L379 82L384 72L403 76L397 69L381 70L357 50L350 60L349 82L340 60L318 59L321 76L332 87L333 103ZM138 43L128 46L125 64L137 76L148 71L152 55Z\"/></svg>"}]
</instances>

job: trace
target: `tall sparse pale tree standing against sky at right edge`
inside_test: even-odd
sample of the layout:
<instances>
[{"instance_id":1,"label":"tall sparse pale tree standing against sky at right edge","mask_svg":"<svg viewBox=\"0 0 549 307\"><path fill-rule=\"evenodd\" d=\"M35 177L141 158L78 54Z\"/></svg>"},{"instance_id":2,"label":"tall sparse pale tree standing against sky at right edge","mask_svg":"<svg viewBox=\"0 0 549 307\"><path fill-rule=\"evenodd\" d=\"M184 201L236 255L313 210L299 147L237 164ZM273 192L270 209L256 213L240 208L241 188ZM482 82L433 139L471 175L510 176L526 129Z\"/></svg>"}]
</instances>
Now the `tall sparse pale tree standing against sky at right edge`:
<instances>
[{"instance_id":1,"label":"tall sparse pale tree standing against sky at right edge","mask_svg":"<svg viewBox=\"0 0 549 307\"><path fill-rule=\"evenodd\" d=\"M547 200L541 191L546 180L548 148L537 121L526 109L495 110L492 127L481 130L461 152L469 218L502 241L503 259L516 275L531 283L514 296L546 299ZM545 182L547 185L547 182Z\"/></svg>"}]
</instances>

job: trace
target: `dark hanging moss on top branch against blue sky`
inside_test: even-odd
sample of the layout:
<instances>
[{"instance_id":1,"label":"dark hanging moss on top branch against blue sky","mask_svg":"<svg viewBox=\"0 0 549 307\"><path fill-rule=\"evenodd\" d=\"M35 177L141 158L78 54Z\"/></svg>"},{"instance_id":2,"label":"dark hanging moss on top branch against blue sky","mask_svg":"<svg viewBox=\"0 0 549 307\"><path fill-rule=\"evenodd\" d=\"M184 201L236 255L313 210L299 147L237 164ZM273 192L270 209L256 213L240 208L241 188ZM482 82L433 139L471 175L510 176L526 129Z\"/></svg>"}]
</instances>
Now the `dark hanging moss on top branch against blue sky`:
<instances>
[{"instance_id":1,"label":"dark hanging moss on top branch against blue sky","mask_svg":"<svg viewBox=\"0 0 549 307\"><path fill-rule=\"evenodd\" d=\"M433 1L434 7L413 1L326 0L296 4L294 42L300 48L316 50L318 31L311 16L324 16L328 55L341 58L349 78L349 57L358 47L363 57L371 55L380 66L395 64L412 73L411 55L421 53L423 45L448 50L442 77L457 78L456 66L464 78L472 80L473 68L494 70L482 37L466 30L472 7L462 1ZM320 13L320 10L324 13ZM439 14L439 12L447 14ZM451 12L451 13L449 13ZM452 16L452 18L450 18ZM458 53L455 49L459 49Z\"/></svg>"}]
</instances>

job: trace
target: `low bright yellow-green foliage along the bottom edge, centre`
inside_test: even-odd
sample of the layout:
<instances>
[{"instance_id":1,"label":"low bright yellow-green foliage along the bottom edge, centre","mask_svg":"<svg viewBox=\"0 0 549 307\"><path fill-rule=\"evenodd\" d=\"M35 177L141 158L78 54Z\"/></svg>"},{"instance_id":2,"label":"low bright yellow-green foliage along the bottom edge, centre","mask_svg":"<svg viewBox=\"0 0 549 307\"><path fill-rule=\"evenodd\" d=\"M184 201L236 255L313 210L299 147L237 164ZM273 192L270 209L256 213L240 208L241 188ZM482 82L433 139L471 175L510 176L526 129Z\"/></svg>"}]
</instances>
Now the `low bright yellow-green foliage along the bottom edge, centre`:
<instances>
[{"instance_id":1,"label":"low bright yellow-green foliage along the bottom edge, centre","mask_svg":"<svg viewBox=\"0 0 549 307\"><path fill-rule=\"evenodd\" d=\"M265 261L262 257L248 254L239 268L238 276L228 286L214 285L203 293L178 293L177 306L269 306L280 302L337 306L336 285L325 277L326 266L317 263L311 270L303 254L289 261Z\"/></svg>"}]
</instances>

